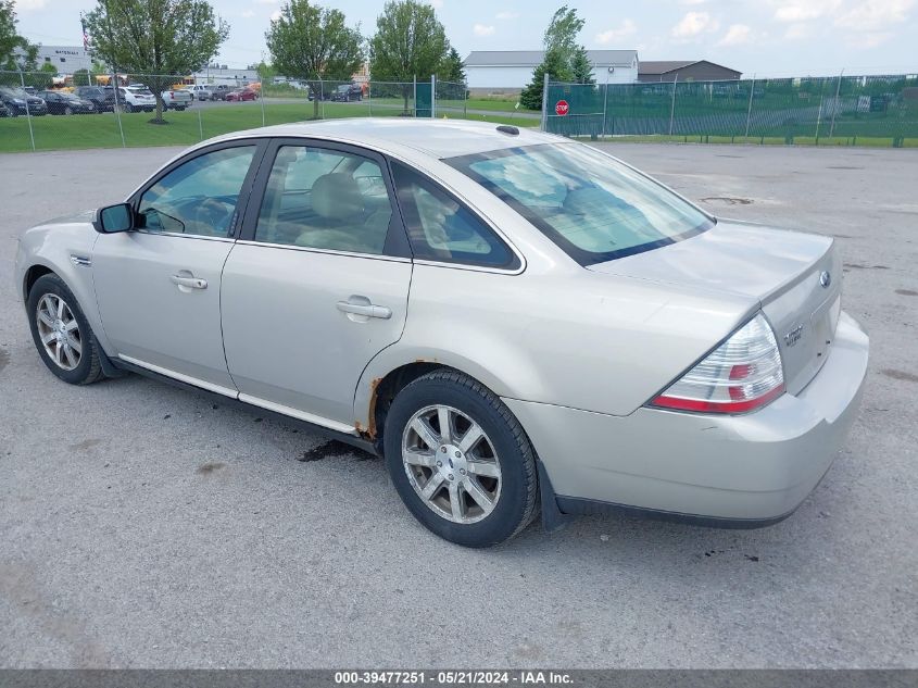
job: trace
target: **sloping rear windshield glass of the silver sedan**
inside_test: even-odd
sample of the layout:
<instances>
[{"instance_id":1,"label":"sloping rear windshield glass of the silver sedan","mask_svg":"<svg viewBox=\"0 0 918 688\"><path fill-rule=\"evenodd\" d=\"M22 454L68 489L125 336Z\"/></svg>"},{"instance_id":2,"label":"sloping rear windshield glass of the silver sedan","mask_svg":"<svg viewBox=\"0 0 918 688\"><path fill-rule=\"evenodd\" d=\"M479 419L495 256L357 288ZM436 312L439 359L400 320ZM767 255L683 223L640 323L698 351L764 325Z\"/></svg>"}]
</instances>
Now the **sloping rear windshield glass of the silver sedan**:
<instances>
[{"instance_id":1,"label":"sloping rear windshield glass of the silver sedan","mask_svg":"<svg viewBox=\"0 0 918 688\"><path fill-rule=\"evenodd\" d=\"M589 146L546 143L447 159L581 265L641 253L714 226L650 177Z\"/></svg>"}]
</instances>

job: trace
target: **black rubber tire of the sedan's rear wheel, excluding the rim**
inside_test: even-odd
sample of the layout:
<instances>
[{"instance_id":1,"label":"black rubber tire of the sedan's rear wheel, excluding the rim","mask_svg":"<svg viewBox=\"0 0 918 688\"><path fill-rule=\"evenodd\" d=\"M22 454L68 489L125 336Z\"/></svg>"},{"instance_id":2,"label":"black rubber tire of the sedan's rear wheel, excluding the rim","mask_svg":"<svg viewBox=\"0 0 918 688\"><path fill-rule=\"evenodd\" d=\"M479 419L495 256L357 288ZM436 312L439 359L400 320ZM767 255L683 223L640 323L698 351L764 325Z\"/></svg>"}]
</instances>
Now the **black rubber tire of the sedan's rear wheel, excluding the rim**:
<instances>
[{"instance_id":1,"label":"black rubber tire of the sedan's rear wheel, excluding the rim","mask_svg":"<svg viewBox=\"0 0 918 688\"><path fill-rule=\"evenodd\" d=\"M500 498L493 511L476 523L454 523L428 508L412 487L402 462L405 426L416 412L435 404L453 406L477 423L500 458ZM464 547L491 547L520 533L538 513L536 452L529 438L496 395L463 373L442 368L402 389L387 413L383 445L386 467L402 502L445 540Z\"/></svg>"}]
</instances>

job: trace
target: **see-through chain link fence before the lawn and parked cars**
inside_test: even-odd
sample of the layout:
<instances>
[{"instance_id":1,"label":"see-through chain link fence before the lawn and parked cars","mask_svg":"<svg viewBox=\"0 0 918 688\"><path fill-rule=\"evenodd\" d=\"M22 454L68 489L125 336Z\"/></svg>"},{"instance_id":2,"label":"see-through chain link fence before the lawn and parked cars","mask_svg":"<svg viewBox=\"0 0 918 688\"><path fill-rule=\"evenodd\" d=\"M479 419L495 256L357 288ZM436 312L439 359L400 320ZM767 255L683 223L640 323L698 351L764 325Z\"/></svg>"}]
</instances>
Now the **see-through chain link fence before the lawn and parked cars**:
<instances>
[{"instance_id":1,"label":"see-through chain link fence before the lawn and parked cars","mask_svg":"<svg viewBox=\"0 0 918 688\"><path fill-rule=\"evenodd\" d=\"M466 100L465 85L435 79L260 84L0 72L0 153L189 146L230 132L337 117L464 116Z\"/></svg>"}]
</instances>

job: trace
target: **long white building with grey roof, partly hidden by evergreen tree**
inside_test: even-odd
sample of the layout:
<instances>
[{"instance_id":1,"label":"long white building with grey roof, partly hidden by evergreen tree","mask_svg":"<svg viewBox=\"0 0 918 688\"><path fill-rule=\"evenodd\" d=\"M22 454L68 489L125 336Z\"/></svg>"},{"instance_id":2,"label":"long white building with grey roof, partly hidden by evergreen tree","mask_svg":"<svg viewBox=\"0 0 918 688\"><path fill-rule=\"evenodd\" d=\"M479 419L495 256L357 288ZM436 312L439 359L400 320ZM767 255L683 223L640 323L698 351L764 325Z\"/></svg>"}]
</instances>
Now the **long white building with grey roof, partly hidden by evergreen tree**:
<instances>
[{"instance_id":1,"label":"long white building with grey roof, partly hidden by evergreen tree","mask_svg":"<svg viewBox=\"0 0 918 688\"><path fill-rule=\"evenodd\" d=\"M598 84L638 80L637 50L588 50L587 54ZM479 93L525 88L544 57L542 50L474 50L464 63L468 88Z\"/></svg>"}]
</instances>

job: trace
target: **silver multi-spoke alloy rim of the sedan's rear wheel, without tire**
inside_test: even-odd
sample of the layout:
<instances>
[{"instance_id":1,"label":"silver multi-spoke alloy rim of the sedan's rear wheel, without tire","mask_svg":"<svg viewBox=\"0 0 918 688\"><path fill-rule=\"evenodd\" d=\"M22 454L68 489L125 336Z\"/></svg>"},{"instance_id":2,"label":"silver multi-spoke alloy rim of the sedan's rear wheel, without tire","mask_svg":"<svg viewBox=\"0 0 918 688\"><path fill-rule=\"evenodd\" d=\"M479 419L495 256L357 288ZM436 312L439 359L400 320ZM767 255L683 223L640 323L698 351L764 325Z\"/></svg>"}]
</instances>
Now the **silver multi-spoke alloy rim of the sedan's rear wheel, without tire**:
<instances>
[{"instance_id":1,"label":"silver multi-spoke alloy rim of the sedan's rear wheel, without tire","mask_svg":"<svg viewBox=\"0 0 918 688\"><path fill-rule=\"evenodd\" d=\"M427 508L453 523L486 518L501 497L493 443L478 423L453 406L425 406L411 417L402 434L402 463Z\"/></svg>"}]
</instances>

